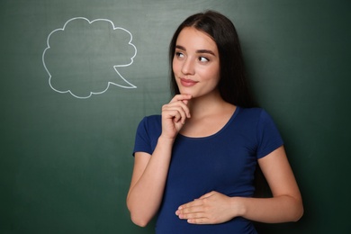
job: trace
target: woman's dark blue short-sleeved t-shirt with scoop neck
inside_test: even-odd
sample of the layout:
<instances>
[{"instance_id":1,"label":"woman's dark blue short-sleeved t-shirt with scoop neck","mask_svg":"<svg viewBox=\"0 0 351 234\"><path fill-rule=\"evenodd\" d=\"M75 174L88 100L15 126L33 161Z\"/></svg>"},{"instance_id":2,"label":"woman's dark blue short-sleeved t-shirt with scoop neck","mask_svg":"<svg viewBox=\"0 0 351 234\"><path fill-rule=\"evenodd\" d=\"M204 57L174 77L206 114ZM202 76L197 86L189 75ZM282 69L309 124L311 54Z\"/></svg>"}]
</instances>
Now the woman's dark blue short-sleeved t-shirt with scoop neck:
<instances>
[{"instance_id":1,"label":"woman's dark blue short-sleeved t-shirt with scoop neck","mask_svg":"<svg viewBox=\"0 0 351 234\"><path fill-rule=\"evenodd\" d=\"M139 123L135 152L152 154L161 134L161 116ZM158 211L157 233L256 233L250 220L241 217L215 225L189 224L180 220L178 206L216 191L228 196L251 197L257 159L283 145L272 118L261 108L237 107L227 124L203 138L178 134Z\"/></svg>"}]
</instances>

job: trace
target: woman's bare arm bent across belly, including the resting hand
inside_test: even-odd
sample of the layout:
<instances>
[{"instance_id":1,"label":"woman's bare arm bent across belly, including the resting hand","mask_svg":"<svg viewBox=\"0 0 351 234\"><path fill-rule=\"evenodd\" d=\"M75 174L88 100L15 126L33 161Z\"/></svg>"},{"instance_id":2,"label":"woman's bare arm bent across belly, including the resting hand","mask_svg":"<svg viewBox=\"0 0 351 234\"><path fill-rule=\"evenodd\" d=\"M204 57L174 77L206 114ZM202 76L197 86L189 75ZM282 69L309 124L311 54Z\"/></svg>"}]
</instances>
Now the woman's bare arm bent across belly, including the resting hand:
<instances>
[{"instance_id":1,"label":"woman's bare arm bent across belly, including the resting hand","mask_svg":"<svg viewBox=\"0 0 351 234\"><path fill-rule=\"evenodd\" d=\"M302 196L287 160L284 147L258 160L273 193L272 198L228 197L211 192L181 205L180 219L194 224L214 224L242 216L260 222L288 222L302 217Z\"/></svg>"}]
</instances>

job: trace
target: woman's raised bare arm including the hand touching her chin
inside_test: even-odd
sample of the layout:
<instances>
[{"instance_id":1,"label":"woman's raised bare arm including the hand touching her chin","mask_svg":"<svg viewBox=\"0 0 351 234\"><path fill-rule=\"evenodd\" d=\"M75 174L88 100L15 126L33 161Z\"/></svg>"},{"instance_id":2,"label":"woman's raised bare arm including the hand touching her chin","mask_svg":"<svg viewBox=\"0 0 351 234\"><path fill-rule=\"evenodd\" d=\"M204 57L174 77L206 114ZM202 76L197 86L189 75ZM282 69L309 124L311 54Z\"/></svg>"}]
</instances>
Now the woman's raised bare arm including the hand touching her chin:
<instances>
[{"instance_id":1,"label":"woman's raised bare arm including the hand touching her chin","mask_svg":"<svg viewBox=\"0 0 351 234\"><path fill-rule=\"evenodd\" d=\"M190 118L190 99L191 95L175 95L162 107L162 133L152 156L135 153L127 206L131 220L141 227L154 217L162 201L175 137Z\"/></svg>"}]
</instances>

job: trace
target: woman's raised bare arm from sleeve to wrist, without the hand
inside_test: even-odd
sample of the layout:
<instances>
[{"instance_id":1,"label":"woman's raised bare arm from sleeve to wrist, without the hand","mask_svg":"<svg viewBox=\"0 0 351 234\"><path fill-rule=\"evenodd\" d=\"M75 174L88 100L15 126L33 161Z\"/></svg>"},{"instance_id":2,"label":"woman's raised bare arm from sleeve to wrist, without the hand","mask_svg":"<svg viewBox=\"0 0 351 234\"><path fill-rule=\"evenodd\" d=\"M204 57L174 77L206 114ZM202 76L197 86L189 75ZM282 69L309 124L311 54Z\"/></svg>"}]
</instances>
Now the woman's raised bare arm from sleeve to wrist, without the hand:
<instances>
[{"instance_id":1,"label":"woman's raised bare arm from sleeve to wrist, without the hand","mask_svg":"<svg viewBox=\"0 0 351 234\"><path fill-rule=\"evenodd\" d=\"M162 201L172 145L172 141L159 138L152 156L135 153L127 206L131 220L141 227L154 217Z\"/></svg>"}]
</instances>

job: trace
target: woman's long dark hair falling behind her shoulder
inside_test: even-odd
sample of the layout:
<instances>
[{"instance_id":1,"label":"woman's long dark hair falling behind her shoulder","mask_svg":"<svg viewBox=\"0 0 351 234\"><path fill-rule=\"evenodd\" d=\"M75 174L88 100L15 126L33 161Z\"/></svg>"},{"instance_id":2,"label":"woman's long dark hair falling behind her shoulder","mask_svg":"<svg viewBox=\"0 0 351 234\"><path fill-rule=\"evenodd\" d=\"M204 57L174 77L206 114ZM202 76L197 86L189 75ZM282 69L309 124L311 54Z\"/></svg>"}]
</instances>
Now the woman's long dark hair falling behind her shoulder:
<instances>
[{"instance_id":1,"label":"woman's long dark hair falling behind her shoulder","mask_svg":"<svg viewBox=\"0 0 351 234\"><path fill-rule=\"evenodd\" d=\"M249 91L238 33L234 24L226 16L213 11L189 16L179 25L170 42L170 67L172 67L175 56L176 40L180 31L185 27L193 27L205 32L216 43L220 54L220 82L218 87L223 100L241 107L257 106ZM172 69L170 71L170 84L172 94L179 94Z\"/></svg>"}]
</instances>

